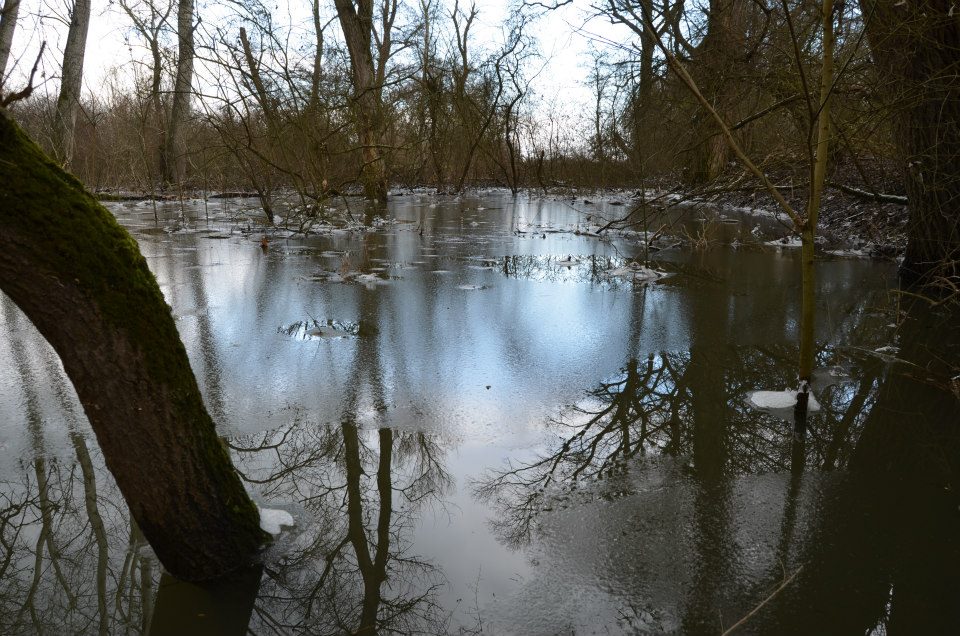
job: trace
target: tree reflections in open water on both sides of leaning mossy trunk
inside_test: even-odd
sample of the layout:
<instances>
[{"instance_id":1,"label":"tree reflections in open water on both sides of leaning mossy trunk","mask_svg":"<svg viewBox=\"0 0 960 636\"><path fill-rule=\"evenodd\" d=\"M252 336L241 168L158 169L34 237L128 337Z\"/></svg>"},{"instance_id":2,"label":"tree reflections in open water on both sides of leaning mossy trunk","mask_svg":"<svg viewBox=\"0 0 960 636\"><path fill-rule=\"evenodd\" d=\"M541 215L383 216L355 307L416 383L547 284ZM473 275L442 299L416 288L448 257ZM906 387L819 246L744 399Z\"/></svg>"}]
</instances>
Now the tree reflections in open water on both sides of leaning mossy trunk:
<instances>
[{"instance_id":1,"label":"tree reflections in open water on both sides of leaning mossy trunk","mask_svg":"<svg viewBox=\"0 0 960 636\"><path fill-rule=\"evenodd\" d=\"M368 433L296 422L234 444L248 482L268 499L300 502L303 523L266 555L259 591L257 581L243 584L246 598L233 581L187 590L211 596L216 610L183 591L164 596L181 584L159 582L102 458L77 436L76 464L40 457L0 488L0 631L146 633L152 622L151 632L216 632L214 612L236 623L250 614L238 604L252 602L255 633L446 633L434 599L443 576L410 551L419 511L442 506L450 487L442 449L422 432Z\"/></svg>"}]
</instances>

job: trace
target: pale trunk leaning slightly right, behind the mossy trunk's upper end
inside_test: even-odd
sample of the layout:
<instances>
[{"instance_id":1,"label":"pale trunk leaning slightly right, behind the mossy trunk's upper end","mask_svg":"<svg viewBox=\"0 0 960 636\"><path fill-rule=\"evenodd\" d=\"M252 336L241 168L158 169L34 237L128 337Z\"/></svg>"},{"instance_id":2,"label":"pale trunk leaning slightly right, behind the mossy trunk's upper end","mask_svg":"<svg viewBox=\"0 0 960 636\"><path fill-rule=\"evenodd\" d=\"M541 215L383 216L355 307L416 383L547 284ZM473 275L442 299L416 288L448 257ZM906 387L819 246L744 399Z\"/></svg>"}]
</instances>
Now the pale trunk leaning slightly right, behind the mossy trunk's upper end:
<instances>
[{"instance_id":1,"label":"pale trunk leaning slightly right, behind the mossy trunk's upper end","mask_svg":"<svg viewBox=\"0 0 960 636\"><path fill-rule=\"evenodd\" d=\"M87 27L90 26L90 0L76 0L70 16L67 45L63 49L63 74L60 96L54 117L57 160L69 166L73 159L74 132L80 110L80 89L83 86L83 58L87 49Z\"/></svg>"}]
</instances>

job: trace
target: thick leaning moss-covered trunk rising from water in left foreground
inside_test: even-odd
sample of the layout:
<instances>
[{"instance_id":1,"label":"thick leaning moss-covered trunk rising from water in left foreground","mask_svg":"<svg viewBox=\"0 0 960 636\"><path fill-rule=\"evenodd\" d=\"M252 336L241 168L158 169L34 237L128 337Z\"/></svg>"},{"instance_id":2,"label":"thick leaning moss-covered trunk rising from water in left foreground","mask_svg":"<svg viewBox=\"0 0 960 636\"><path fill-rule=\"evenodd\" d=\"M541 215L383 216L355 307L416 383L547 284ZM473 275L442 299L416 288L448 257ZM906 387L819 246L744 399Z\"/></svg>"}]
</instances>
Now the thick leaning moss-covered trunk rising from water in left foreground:
<instances>
[{"instance_id":1,"label":"thick leaning moss-covered trunk rising from water in left foreground","mask_svg":"<svg viewBox=\"0 0 960 636\"><path fill-rule=\"evenodd\" d=\"M187 580L265 536L136 242L0 112L0 289L57 351L160 561Z\"/></svg>"}]
</instances>

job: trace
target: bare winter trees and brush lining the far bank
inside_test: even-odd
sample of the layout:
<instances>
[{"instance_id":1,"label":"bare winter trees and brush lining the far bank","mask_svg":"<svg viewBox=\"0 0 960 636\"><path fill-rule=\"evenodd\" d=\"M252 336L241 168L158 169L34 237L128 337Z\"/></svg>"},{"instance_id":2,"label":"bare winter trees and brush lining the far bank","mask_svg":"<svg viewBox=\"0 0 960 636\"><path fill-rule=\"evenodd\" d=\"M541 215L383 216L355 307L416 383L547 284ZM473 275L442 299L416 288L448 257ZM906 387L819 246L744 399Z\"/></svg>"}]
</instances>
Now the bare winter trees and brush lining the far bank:
<instances>
[{"instance_id":1,"label":"bare winter trees and brush lining the far bank","mask_svg":"<svg viewBox=\"0 0 960 636\"><path fill-rule=\"evenodd\" d=\"M76 0L59 94L21 100L15 115L90 187L253 190L271 217L290 189L311 204L344 190L383 201L391 184L736 179L728 138L673 56L760 169L806 187L830 24L826 181L844 166L840 186L882 197L890 180L878 183L876 166L887 167L910 199L905 271L923 278L960 260L960 13L948 0L594 3L585 10L632 36L595 43L570 69L593 92L576 116L532 86L545 62L538 21L565 4L517 0L498 37L488 28L481 41L482 9L462 0L311 0L308 25L261 0L207 15L192 0L118 0L145 54L131 81L118 75L81 98L90 6ZM5 0L0 18L3 77L19 6ZM957 267L935 275L955 281Z\"/></svg>"}]
</instances>

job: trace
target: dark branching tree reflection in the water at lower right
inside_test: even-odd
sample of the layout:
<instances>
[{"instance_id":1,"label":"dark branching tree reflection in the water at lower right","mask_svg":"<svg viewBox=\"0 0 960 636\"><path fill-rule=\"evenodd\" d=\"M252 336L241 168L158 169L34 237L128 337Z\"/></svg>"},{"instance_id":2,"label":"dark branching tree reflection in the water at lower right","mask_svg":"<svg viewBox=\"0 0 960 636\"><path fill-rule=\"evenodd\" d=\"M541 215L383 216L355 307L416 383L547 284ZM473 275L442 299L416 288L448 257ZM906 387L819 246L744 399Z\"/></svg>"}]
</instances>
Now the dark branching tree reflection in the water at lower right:
<instances>
[{"instance_id":1,"label":"dark branching tree reflection in the water at lower right","mask_svg":"<svg viewBox=\"0 0 960 636\"><path fill-rule=\"evenodd\" d=\"M956 633L960 523L943 489L960 403L938 386L956 369L930 364L944 336L926 329L901 329L901 362L822 349L822 368L847 373L820 387L801 436L748 401L790 385L788 347L630 359L550 422L548 452L474 484L498 537L539 567L504 620L523 625L549 591L573 600L534 631L719 633L789 581L748 631Z\"/></svg>"}]
</instances>

